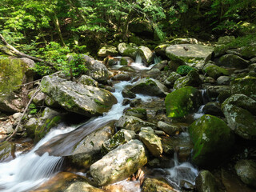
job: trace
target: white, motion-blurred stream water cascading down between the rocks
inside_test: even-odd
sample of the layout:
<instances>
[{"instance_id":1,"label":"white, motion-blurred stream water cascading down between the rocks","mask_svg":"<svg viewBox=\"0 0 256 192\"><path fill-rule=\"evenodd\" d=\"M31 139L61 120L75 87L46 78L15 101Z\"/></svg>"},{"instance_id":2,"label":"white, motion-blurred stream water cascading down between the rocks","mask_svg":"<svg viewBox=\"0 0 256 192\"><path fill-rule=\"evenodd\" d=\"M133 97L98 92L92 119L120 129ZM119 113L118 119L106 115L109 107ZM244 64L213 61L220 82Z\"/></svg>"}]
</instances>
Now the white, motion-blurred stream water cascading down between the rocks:
<instances>
[{"instance_id":1,"label":"white, motion-blurred stream water cascading down between the rocks","mask_svg":"<svg viewBox=\"0 0 256 192\"><path fill-rule=\"evenodd\" d=\"M136 62L133 63L132 66L140 70L149 70L150 67L152 67L143 66L142 58L140 57L136 59ZM65 126L62 123L55 129L52 129L45 138L42 138L29 153L17 154L17 158L14 160L0 163L0 191L29 191L35 186L46 182L47 179L61 170L63 162L62 156L69 155L73 147L78 144L82 138L107 122L118 120L118 118L122 116L122 111L127 107L122 106L122 89L130 85L132 85L132 82L118 82L114 84L115 92L113 94L117 98L118 103L115 104L108 113L98 118L92 118L90 121L77 128ZM137 98L142 98L143 102L152 99L150 96L141 94L137 94ZM170 180L170 182L174 182L177 186L182 179L194 182L195 175L197 175L197 171L194 167L188 162L179 163L177 158L174 161L176 161L176 164L173 168L163 170L166 178ZM186 171L184 172L184 170ZM125 183L123 185L126 185L126 188L132 188L132 185L129 184L130 182L122 183ZM136 191L140 191L140 189L137 187Z\"/></svg>"}]
</instances>

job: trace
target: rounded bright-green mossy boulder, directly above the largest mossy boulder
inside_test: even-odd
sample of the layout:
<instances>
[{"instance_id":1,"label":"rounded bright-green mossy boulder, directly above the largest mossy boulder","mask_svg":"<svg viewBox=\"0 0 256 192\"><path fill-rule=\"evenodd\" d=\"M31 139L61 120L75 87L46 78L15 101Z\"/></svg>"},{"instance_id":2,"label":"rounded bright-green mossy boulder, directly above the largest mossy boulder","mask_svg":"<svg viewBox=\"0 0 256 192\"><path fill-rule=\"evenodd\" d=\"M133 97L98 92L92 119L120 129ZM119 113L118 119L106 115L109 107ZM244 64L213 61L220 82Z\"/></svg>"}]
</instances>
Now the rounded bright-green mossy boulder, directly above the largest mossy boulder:
<instances>
[{"instance_id":1,"label":"rounded bright-green mossy boulder, directly above the largest mossy boulder","mask_svg":"<svg viewBox=\"0 0 256 192\"><path fill-rule=\"evenodd\" d=\"M202 104L199 91L192 86L185 86L167 94L165 105L169 118L183 118L191 112L197 111Z\"/></svg>"}]
</instances>

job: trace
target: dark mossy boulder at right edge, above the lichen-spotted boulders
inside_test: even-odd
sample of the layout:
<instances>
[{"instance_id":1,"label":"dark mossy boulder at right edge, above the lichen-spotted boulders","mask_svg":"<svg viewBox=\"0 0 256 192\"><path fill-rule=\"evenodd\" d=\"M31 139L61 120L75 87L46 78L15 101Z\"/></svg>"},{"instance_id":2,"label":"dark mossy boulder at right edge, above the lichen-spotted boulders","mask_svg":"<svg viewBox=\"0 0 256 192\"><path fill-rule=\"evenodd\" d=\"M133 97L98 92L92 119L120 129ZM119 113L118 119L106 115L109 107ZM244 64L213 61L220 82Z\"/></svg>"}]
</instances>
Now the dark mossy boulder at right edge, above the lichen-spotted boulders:
<instances>
[{"instance_id":1,"label":"dark mossy boulder at right edge, above the lichen-spotted boulders","mask_svg":"<svg viewBox=\"0 0 256 192\"><path fill-rule=\"evenodd\" d=\"M244 78L235 78L231 81L231 94L245 94L256 100L256 78L246 76Z\"/></svg>"}]
</instances>

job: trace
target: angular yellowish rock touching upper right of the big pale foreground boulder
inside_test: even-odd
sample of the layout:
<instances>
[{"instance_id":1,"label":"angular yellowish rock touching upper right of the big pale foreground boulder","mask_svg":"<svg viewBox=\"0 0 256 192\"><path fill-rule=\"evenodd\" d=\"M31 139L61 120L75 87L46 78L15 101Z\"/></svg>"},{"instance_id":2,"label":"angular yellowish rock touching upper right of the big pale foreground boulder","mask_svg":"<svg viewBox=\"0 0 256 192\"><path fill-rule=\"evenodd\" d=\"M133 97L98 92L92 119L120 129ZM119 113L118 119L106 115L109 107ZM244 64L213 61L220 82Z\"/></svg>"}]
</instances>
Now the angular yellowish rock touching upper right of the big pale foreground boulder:
<instances>
[{"instance_id":1,"label":"angular yellowish rock touching upper right of the big pale foreground boulder","mask_svg":"<svg viewBox=\"0 0 256 192\"><path fill-rule=\"evenodd\" d=\"M161 138L154 134L152 128L142 127L138 137L155 157L159 157L162 154Z\"/></svg>"}]
</instances>

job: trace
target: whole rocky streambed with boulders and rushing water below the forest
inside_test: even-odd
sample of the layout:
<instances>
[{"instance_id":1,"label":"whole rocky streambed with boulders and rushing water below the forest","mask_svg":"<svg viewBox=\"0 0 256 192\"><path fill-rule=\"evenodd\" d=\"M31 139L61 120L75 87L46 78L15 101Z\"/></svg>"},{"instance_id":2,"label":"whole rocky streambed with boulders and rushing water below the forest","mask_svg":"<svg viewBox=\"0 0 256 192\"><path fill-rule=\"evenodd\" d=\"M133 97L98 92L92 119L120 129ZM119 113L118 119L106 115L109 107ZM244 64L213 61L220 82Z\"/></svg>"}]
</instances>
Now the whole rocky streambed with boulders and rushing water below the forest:
<instances>
[{"instance_id":1,"label":"whole rocky streambed with boulders and rushing water below the forest","mask_svg":"<svg viewBox=\"0 0 256 192\"><path fill-rule=\"evenodd\" d=\"M19 131L36 145L1 145L0 189L254 191L255 48L172 43L155 48L154 66L149 48L120 43L99 51L105 65L84 56L90 70L76 82L42 78L33 101L44 110Z\"/></svg>"}]
</instances>

